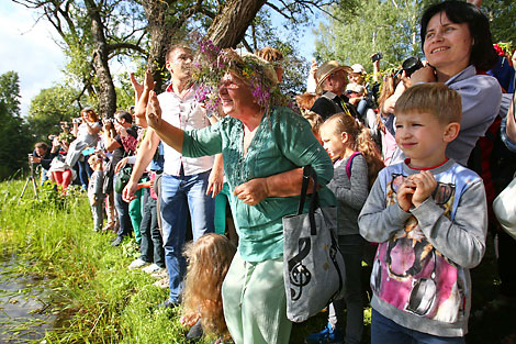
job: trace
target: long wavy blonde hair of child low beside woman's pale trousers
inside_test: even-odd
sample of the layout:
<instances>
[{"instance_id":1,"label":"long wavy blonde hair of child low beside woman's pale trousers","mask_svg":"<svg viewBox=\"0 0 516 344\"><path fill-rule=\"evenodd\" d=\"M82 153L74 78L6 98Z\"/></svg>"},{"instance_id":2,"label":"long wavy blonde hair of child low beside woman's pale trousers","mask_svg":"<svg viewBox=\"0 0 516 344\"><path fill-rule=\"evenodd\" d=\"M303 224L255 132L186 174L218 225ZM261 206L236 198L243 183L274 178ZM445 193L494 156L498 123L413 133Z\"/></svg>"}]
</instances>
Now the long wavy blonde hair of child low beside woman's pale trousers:
<instances>
[{"instance_id":1,"label":"long wavy blonde hair of child low beside woman's pale trousers","mask_svg":"<svg viewBox=\"0 0 516 344\"><path fill-rule=\"evenodd\" d=\"M229 337L222 310L222 282L229 269L235 245L224 235L210 233L186 245L183 317L201 317L204 333Z\"/></svg>"}]
</instances>

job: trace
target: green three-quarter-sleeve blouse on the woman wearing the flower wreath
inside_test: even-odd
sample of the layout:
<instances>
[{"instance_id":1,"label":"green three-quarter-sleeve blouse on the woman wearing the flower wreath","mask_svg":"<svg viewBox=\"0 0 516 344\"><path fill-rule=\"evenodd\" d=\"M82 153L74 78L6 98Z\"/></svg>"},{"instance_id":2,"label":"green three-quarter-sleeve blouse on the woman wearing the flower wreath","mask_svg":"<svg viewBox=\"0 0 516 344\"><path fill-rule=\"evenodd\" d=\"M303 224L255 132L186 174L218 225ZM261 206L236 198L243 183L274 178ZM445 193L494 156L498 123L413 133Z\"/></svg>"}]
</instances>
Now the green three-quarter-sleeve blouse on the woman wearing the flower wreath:
<instances>
[{"instance_id":1,"label":"green three-quarter-sleeve blouse on the woman wearing the flower wreath","mask_svg":"<svg viewBox=\"0 0 516 344\"><path fill-rule=\"evenodd\" d=\"M334 168L328 154L312 133L310 123L288 108L273 108L263 115L244 156L244 126L232 116L214 125L184 133L184 156L199 157L221 153L231 190L254 178L268 177L312 165L318 182L326 185ZM322 204L336 204L326 187L319 191ZM294 214L298 197L268 197L256 206L247 206L236 197L233 214L238 228L238 251L247 262L263 262L283 255L281 219ZM309 202L306 202L309 203Z\"/></svg>"}]
</instances>

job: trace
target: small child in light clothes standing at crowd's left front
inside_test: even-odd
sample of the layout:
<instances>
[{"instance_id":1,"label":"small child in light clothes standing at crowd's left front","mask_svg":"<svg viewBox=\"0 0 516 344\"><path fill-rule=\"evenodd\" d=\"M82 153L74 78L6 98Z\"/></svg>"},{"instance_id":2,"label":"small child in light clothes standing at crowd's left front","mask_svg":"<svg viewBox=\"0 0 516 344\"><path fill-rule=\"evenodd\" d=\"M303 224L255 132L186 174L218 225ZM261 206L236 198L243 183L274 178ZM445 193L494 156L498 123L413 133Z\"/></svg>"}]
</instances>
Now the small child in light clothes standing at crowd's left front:
<instances>
[{"instance_id":1,"label":"small child in light clothes standing at crowd's left front","mask_svg":"<svg viewBox=\"0 0 516 344\"><path fill-rule=\"evenodd\" d=\"M102 186L104 184L104 169L102 167L102 158L93 154L88 159L93 174L88 182L88 199L91 206L91 214L93 215L94 231L99 232L102 229L104 220L104 193Z\"/></svg>"}]
</instances>

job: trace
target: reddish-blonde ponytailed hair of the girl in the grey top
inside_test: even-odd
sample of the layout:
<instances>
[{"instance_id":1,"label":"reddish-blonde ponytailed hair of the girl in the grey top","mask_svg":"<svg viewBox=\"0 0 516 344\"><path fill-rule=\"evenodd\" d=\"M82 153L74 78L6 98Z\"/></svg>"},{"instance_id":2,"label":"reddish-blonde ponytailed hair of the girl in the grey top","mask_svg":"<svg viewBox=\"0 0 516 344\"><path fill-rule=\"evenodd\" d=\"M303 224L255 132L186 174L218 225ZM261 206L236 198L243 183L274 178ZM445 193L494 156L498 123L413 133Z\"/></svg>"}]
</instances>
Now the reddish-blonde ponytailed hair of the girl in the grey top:
<instances>
[{"instance_id":1,"label":"reddish-blonde ponytailed hair of the girl in the grey top","mask_svg":"<svg viewBox=\"0 0 516 344\"><path fill-rule=\"evenodd\" d=\"M371 189L378 173L385 167L381 159L378 146L369 134L369 129L347 113L339 112L327 119L323 126L333 127L335 135L347 133L348 145L355 152L360 152L368 164L368 181Z\"/></svg>"}]
</instances>

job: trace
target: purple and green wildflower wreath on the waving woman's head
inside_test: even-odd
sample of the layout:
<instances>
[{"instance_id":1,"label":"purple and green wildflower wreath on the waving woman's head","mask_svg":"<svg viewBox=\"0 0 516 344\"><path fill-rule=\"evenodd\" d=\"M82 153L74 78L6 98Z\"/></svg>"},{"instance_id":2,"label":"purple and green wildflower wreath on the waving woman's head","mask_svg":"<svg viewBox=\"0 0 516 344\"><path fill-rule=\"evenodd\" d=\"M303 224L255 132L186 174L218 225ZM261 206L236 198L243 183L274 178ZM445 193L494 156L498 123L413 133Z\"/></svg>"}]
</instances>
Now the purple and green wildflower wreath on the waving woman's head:
<instances>
[{"instance_id":1,"label":"purple and green wildflower wreath on the waving woman's head","mask_svg":"<svg viewBox=\"0 0 516 344\"><path fill-rule=\"evenodd\" d=\"M198 38L198 56L193 62L193 80L198 84L195 98L209 111L217 111L221 104L218 84L223 76L236 73L251 89L258 104L268 112L270 107L288 106L292 102L281 95L278 77L272 64L251 53L220 49L211 41Z\"/></svg>"}]
</instances>

